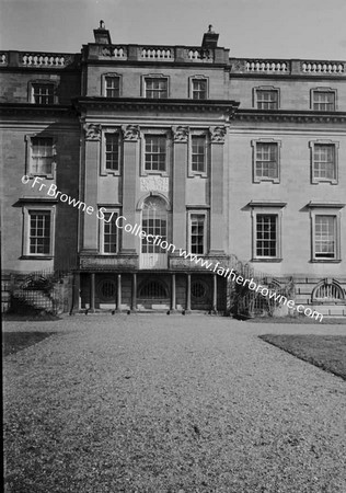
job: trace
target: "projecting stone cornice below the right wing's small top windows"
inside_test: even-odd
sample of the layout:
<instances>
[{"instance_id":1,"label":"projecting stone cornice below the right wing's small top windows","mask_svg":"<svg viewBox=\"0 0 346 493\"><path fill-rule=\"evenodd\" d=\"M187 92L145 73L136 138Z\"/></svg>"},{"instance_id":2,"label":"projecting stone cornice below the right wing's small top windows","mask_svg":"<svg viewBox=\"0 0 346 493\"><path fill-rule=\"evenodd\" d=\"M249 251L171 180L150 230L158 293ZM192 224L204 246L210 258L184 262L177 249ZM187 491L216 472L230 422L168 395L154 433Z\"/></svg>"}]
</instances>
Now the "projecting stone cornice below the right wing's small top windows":
<instances>
[{"instance_id":1,"label":"projecting stone cornice below the right wing's small top windows","mask_svg":"<svg viewBox=\"0 0 346 493\"><path fill-rule=\"evenodd\" d=\"M295 123L345 123L345 112L313 112L313 111L260 111L238 110L234 115L238 122L295 122Z\"/></svg>"}]
</instances>

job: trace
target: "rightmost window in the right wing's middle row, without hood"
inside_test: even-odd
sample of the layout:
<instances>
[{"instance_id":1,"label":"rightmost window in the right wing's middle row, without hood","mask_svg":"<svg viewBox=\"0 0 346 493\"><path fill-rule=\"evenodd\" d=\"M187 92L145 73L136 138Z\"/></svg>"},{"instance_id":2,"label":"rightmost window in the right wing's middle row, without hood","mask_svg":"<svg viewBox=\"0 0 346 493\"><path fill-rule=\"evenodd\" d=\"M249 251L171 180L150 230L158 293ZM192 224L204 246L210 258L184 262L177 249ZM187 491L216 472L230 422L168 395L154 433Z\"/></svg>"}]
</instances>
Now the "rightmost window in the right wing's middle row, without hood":
<instances>
[{"instance_id":1,"label":"rightmost window in the right wing's middle row, without hood","mask_svg":"<svg viewBox=\"0 0 346 493\"><path fill-rule=\"evenodd\" d=\"M310 142L312 152L312 183L330 182L337 184L337 142Z\"/></svg>"}]
</instances>

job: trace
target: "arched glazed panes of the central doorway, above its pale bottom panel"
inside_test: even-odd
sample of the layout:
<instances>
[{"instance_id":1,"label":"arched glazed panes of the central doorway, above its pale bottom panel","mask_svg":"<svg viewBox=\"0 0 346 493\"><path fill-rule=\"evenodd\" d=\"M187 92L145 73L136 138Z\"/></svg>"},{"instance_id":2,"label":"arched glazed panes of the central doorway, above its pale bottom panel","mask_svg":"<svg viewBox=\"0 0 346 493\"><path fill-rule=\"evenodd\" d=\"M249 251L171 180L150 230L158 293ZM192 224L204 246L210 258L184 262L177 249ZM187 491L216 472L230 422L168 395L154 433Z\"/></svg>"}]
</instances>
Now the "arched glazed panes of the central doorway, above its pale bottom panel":
<instances>
[{"instance_id":1,"label":"arched glazed panes of the central doorway, above its pale bottom panel","mask_svg":"<svg viewBox=\"0 0 346 493\"><path fill-rule=\"evenodd\" d=\"M166 241L166 223L168 213L166 204L161 197L150 196L145 200L142 210L142 230L147 236L160 237L162 241ZM147 237L141 241L141 253L164 253L160 244L153 244L153 238L148 241Z\"/></svg>"}]
</instances>

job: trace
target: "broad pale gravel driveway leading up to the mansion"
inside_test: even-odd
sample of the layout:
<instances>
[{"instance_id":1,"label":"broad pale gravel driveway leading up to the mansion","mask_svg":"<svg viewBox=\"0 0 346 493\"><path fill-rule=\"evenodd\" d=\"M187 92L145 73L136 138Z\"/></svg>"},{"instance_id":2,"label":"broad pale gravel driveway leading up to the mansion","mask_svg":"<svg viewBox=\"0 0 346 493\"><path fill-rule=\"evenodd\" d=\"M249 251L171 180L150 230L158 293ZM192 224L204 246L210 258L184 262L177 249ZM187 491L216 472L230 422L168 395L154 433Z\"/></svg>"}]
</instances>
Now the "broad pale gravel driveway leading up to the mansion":
<instances>
[{"instance_id":1,"label":"broad pale gravel driveway leading up to the mansion","mask_svg":"<svg viewBox=\"0 0 346 493\"><path fill-rule=\"evenodd\" d=\"M346 386L260 340L346 325L207 316L8 322L11 493L345 493Z\"/></svg>"}]
</instances>

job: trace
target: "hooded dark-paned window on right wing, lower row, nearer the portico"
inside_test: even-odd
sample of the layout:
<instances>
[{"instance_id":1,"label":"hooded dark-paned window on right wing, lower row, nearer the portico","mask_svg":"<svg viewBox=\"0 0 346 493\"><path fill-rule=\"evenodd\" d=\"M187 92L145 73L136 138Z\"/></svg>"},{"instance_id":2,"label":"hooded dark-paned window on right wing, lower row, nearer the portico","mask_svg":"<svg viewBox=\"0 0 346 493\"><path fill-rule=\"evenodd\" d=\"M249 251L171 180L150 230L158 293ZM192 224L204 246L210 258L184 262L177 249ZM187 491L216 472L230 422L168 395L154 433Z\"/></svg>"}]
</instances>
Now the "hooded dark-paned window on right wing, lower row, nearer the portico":
<instances>
[{"instance_id":1,"label":"hooded dark-paned window on right wing, lower row, nearer the portico","mask_svg":"<svg viewBox=\"0 0 346 493\"><path fill-rule=\"evenodd\" d=\"M252 262L280 262L281 220L287 203L252 200Z\"/></svg>"}]
</instances>

